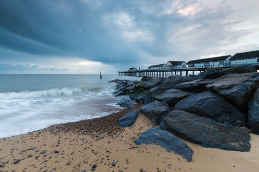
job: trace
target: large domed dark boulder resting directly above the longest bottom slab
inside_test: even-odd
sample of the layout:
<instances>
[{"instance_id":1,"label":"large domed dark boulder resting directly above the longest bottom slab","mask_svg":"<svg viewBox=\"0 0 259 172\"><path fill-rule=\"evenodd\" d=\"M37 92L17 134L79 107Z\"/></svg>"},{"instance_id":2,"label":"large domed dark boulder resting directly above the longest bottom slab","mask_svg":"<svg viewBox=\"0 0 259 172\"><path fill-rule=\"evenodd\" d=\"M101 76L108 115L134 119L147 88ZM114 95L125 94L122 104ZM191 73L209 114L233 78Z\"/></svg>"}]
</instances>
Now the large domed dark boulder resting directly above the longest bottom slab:
<instances>
[{"instance_id":1,"label":"large domed dark boulder resting directly above the longest bottom slab","mask_svg":"<svg viewBox=\"0 0 259 172\"><path fill-rule=\"evenodd\" d=\"M182 110L212 118L218 122L244 126L244 116L223 97L209 91L201 92L178 102L174 110Z\"/></svg>"}]
</instances>

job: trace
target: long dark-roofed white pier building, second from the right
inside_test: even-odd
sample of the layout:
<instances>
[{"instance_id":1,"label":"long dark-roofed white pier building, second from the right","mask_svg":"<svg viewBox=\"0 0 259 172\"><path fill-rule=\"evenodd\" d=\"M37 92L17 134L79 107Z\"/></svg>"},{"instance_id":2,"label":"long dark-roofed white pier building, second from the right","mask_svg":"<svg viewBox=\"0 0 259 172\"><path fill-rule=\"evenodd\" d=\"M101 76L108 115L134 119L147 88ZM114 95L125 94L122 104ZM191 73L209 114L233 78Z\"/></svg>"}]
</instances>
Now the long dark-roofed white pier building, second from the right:
<instances>
[{"instance_id":1,"label":"long dark-roofed white pier building, second from the right","mask_svg":"<svg viewBox=\"0 0 259 172\"><path fill-rule=\"evenodd\" d=\"M202 58L202 59L188 61L187 65L188 65L188 69L223 67L224 65L230 64L231 57L232 57L231 55L227 55L227 56L220 56L220 57Z\"/></svg>"}]
</instances>

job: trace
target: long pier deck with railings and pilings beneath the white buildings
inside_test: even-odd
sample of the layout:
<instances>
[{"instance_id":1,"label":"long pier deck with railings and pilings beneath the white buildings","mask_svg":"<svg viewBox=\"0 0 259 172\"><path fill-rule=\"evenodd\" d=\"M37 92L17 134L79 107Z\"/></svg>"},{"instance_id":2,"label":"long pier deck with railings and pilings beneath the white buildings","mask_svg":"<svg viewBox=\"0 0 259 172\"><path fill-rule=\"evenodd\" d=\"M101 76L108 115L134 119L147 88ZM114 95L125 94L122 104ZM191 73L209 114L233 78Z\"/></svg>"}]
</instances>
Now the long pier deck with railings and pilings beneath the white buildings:
<instances>
[{"instance_id":1,"label":"long pier deck with railings and pilings beneath the white buildings","mask_svg":"<svg viewBox=\"0 0 259 172\"><path fill-rule=\"evenodd\" d=\"M253 65L257 70L259 70L259 63L250 63ZM234 65L217 65L217 66L203 66L203 67L179 67L179 68L170 68L165 67L164 69L158 69L158 70L149 70L149 69L143 69L143 70L128 70L128 71L119 71L119 76L133 76L133 77L143 77L143 76L149 76L153 78L168 78L170 76L179 75L179 76L188 76L188 75L194 75L194 72L202 72L208 69L214 69L214 70L222 70L227 69L234 66L240 66L244 64L234 64Z\"/></svg>"}]
</instances>

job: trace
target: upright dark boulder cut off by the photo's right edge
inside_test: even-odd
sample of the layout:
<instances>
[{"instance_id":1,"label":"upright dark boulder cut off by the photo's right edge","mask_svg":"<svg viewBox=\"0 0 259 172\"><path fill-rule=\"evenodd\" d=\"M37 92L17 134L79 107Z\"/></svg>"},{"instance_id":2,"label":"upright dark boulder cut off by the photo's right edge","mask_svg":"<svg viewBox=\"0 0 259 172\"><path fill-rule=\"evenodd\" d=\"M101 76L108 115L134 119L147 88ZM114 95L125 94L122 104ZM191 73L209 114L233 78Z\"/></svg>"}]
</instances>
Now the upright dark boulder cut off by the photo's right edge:
<instances>
[{"instance_id":1,"label":"upright dark boulder cut off by the photo's right edge","mask_svg":"<svg viewBox=\"0 0 259 172\"><path fill-rule=\"evenodd\" d=\"M251 131L259 135L259 88L248 103L248 124Z\"/></svg>"}]
</instances>

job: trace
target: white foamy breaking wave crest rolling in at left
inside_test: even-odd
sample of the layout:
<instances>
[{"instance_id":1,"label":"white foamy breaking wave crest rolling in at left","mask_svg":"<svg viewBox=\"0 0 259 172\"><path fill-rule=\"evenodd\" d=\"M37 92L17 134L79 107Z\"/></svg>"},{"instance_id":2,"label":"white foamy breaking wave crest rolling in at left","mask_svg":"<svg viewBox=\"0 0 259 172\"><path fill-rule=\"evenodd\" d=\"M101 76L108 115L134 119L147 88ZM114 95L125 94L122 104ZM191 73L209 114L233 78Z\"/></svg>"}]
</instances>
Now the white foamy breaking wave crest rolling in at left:
<instances>
[{"instance_id":1,"label":"white foamy breaking wave crest rolling in at left","mask_svg":"<svg viewBox=\"0 0 259 172\"><path fill-rule=\"evenodd\" d=\"M87 91L96 90L97 88L93 89L86 89L86 88L54 88L54 89L47 89L47 90L37 90L37 91L20 91L20 92L0 92L0 100L7 100L7 99L24 99L24 98L39 98L39 97L47 97L47 96L59 96L59 95L73 95L79 94Z\"/></svg>"}]
</instances>

